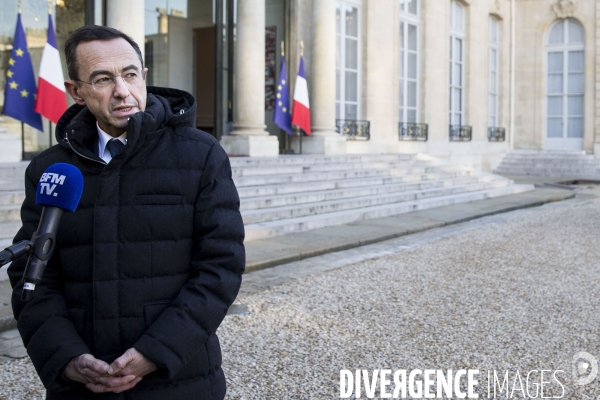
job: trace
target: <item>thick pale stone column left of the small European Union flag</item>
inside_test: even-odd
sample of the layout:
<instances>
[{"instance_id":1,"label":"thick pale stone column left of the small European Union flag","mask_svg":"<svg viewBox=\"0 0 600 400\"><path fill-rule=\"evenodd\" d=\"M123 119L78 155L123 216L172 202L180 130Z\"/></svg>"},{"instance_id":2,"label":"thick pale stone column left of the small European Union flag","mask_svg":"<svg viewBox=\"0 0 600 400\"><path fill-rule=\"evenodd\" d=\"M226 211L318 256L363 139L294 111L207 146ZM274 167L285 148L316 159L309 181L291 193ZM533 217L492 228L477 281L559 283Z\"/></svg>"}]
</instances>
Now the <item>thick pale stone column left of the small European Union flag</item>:
<instances>
[{"instance_id":1,"label":"thick pale stone column left of the small European Union flag","mask_svg":"<svg viewBox=\"0 0 600 400\"><path fill-rule=\"evenodd\" d=\"M265 0L238 0L233 131L221 138L232 155L275 157L277 136L265 130Z\"/></svg>"}]
</instances>

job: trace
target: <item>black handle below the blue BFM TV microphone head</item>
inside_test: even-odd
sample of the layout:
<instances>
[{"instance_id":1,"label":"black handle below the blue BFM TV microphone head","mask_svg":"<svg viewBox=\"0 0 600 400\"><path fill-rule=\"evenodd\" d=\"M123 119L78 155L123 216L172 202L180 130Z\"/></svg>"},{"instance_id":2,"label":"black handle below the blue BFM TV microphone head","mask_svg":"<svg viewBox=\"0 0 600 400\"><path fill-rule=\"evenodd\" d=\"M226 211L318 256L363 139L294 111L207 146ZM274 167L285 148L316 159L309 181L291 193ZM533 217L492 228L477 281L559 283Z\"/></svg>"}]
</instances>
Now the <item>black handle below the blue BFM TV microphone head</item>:
<instances>
[{"instance_id":1,"label":"black handle below the blue BFM TV microphone head","mask_svg":"<svg viewBox=\"0 0 600 400\"><path fill-rule=\"evenodd\" d=\"M40 217L40 224L33 234L33 252L27 259L23 272L22 301L29 301L33 296L35 285L41 282L48 259L54 252L56 245L56 231L64 210L58 207L44 207Z\"/></svg>"}]
</instances>

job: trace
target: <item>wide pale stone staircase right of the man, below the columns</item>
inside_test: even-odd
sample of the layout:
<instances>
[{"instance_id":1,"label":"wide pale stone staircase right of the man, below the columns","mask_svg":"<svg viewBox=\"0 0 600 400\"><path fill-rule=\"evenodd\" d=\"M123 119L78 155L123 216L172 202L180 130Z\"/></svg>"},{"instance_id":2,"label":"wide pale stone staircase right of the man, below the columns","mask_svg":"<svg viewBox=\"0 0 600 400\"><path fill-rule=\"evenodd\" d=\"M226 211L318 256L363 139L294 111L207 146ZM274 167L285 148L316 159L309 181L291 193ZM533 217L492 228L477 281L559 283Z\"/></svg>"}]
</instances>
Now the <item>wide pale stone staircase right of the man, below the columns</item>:
<instances>
[{"instance_id":1,"label":"wide pale stone staircase right of the man, below the columns","mask_svg":"<svg viewBox=\"0 0 600 400\"><path fill-rule=\"evenodd\" d=\"M532 190L425 155L231 158L246 241Z\"/></svg>"}]
</instances>

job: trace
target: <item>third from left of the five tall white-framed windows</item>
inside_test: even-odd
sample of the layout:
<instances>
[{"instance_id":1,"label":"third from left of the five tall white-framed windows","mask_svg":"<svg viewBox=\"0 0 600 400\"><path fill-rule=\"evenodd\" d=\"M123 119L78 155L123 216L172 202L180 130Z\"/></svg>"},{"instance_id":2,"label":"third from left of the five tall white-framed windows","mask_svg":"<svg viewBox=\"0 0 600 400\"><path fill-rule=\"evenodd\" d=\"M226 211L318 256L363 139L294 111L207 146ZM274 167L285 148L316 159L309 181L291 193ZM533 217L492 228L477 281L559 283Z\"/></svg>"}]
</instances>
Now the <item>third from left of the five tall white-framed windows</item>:
<instances>
[{"instance_id":1,"label":"third from left of the five tall white-framed windows","mask_svg":"<svg viewBox=\"0 0 600 400\"><path fill-rule=\"evenodd\" d=\"M450 125L464 125L465 8L450 6Z\"/></svg>"}]
</instances>

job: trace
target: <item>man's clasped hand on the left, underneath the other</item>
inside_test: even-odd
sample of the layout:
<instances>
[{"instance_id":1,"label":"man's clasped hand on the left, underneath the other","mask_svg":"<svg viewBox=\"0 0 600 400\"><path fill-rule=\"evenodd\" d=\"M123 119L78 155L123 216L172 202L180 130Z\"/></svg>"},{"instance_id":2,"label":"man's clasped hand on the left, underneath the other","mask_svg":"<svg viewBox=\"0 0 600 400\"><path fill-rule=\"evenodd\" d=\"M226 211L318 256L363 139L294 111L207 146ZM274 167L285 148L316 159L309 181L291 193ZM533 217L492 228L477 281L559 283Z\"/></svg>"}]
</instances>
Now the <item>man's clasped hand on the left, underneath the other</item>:
<instances>
[{"instance_id":1,"label":"man's clasped hand on the left, underneath the other","mask_svg":"<svg viewBox=\"0 0 600 400\"><path fill-rule=\"evenodd\" d=\"M64 376L75 382L85 384L92 392L101 393L103 391L122 392L123 390L131 389L139 382L135 382L135 376L121 376L114 378L110 382L110 390L97 391L96 386L109 376L110 366L102 360L98 360L91 354L82 354L73 357L65 368ZM141 379L141 378L140 378Z\"/></svg>"}]
</instances>

